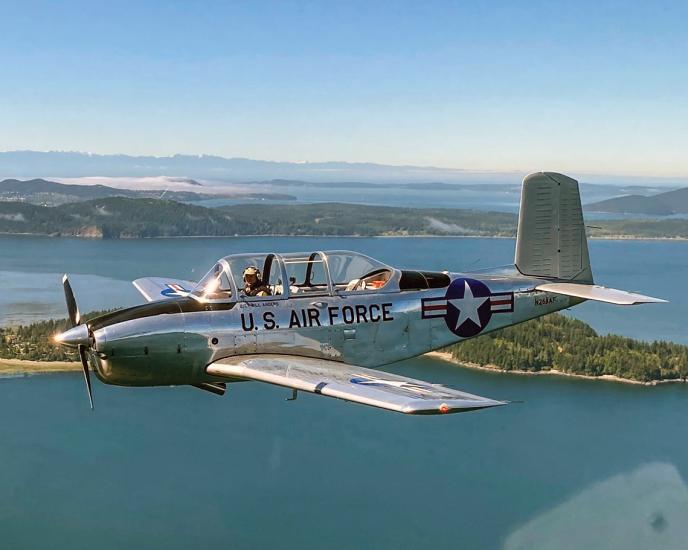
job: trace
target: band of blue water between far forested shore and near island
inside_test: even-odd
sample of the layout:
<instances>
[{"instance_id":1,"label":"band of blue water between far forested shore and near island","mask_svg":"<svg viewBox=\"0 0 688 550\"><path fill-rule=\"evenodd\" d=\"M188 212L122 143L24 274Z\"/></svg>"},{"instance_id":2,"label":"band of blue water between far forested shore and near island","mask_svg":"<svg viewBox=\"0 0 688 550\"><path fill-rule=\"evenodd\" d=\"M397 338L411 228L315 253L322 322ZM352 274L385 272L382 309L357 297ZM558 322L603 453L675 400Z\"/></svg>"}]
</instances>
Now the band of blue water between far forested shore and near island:
<instances>
[{"instance_id":1,"label":"band of blue water between far forested shore and near island","mask_svg":"<svg viewBox=\"0 0 688 550\"><path fill-rule=\"evenodd\" d=\"M235 237L101 241L0 237L0 323L64 317L61 277L70 273L82 311L141 303L138 277L198 280L222 256L236 252L296 252L344 248L399 267L474 270L513 261L512 239ZM591 241L596 279L607 286L670 300L614 307L586 303L571 311L602 333L688 344L683 290L688 242Z\"/></svg>"}]
</instances>

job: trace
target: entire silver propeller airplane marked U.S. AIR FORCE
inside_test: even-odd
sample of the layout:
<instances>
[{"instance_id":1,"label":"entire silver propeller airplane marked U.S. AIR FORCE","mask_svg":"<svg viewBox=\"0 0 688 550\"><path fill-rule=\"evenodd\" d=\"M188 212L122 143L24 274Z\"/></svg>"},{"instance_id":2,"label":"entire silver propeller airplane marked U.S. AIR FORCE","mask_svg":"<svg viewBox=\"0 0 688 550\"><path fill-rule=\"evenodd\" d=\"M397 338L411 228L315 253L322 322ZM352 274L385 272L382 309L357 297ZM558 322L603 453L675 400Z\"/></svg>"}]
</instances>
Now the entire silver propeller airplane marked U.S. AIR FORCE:
<instances>
[{"instance_id":1,"label":"entire silver propeller airplane marked U.S. AIR FORCE","mask_svg":"<svg viewBox=\"0 0 688 550\"><path fill-rule=\"evenodd\" d=\"M665 302L594 284L578 182L523 180L514 264L468 273L398 269L345 250L235 254L198 282L133 281L145 304L82 322L67 275L71 328L93 408L105 384L191 385L223 395L260 381L391 411L441 415L505 405L378 367L586 300Z\"/></svg>"}]
</instances>

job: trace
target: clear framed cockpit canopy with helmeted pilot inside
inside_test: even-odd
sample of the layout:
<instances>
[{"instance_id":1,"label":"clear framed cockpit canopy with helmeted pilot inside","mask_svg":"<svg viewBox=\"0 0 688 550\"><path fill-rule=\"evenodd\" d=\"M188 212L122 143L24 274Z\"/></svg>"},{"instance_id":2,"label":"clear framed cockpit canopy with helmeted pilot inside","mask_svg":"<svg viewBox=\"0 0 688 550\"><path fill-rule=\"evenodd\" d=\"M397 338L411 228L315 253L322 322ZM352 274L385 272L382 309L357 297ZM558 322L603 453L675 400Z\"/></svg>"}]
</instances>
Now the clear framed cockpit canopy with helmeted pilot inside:
<instances>
[{"instance_id":1,"label":"clear framed cockpit canopy with helmeted pilot inside","mask_svg":"<svg viewBox=\"0 0 688 550\"><path fill-rule=\"evenodd\" d=\"M253 301L447 286L443 273L400 271L348 250L234 254L220 259L192 290L203 302Z\"/></svg>"}]
</instances>

